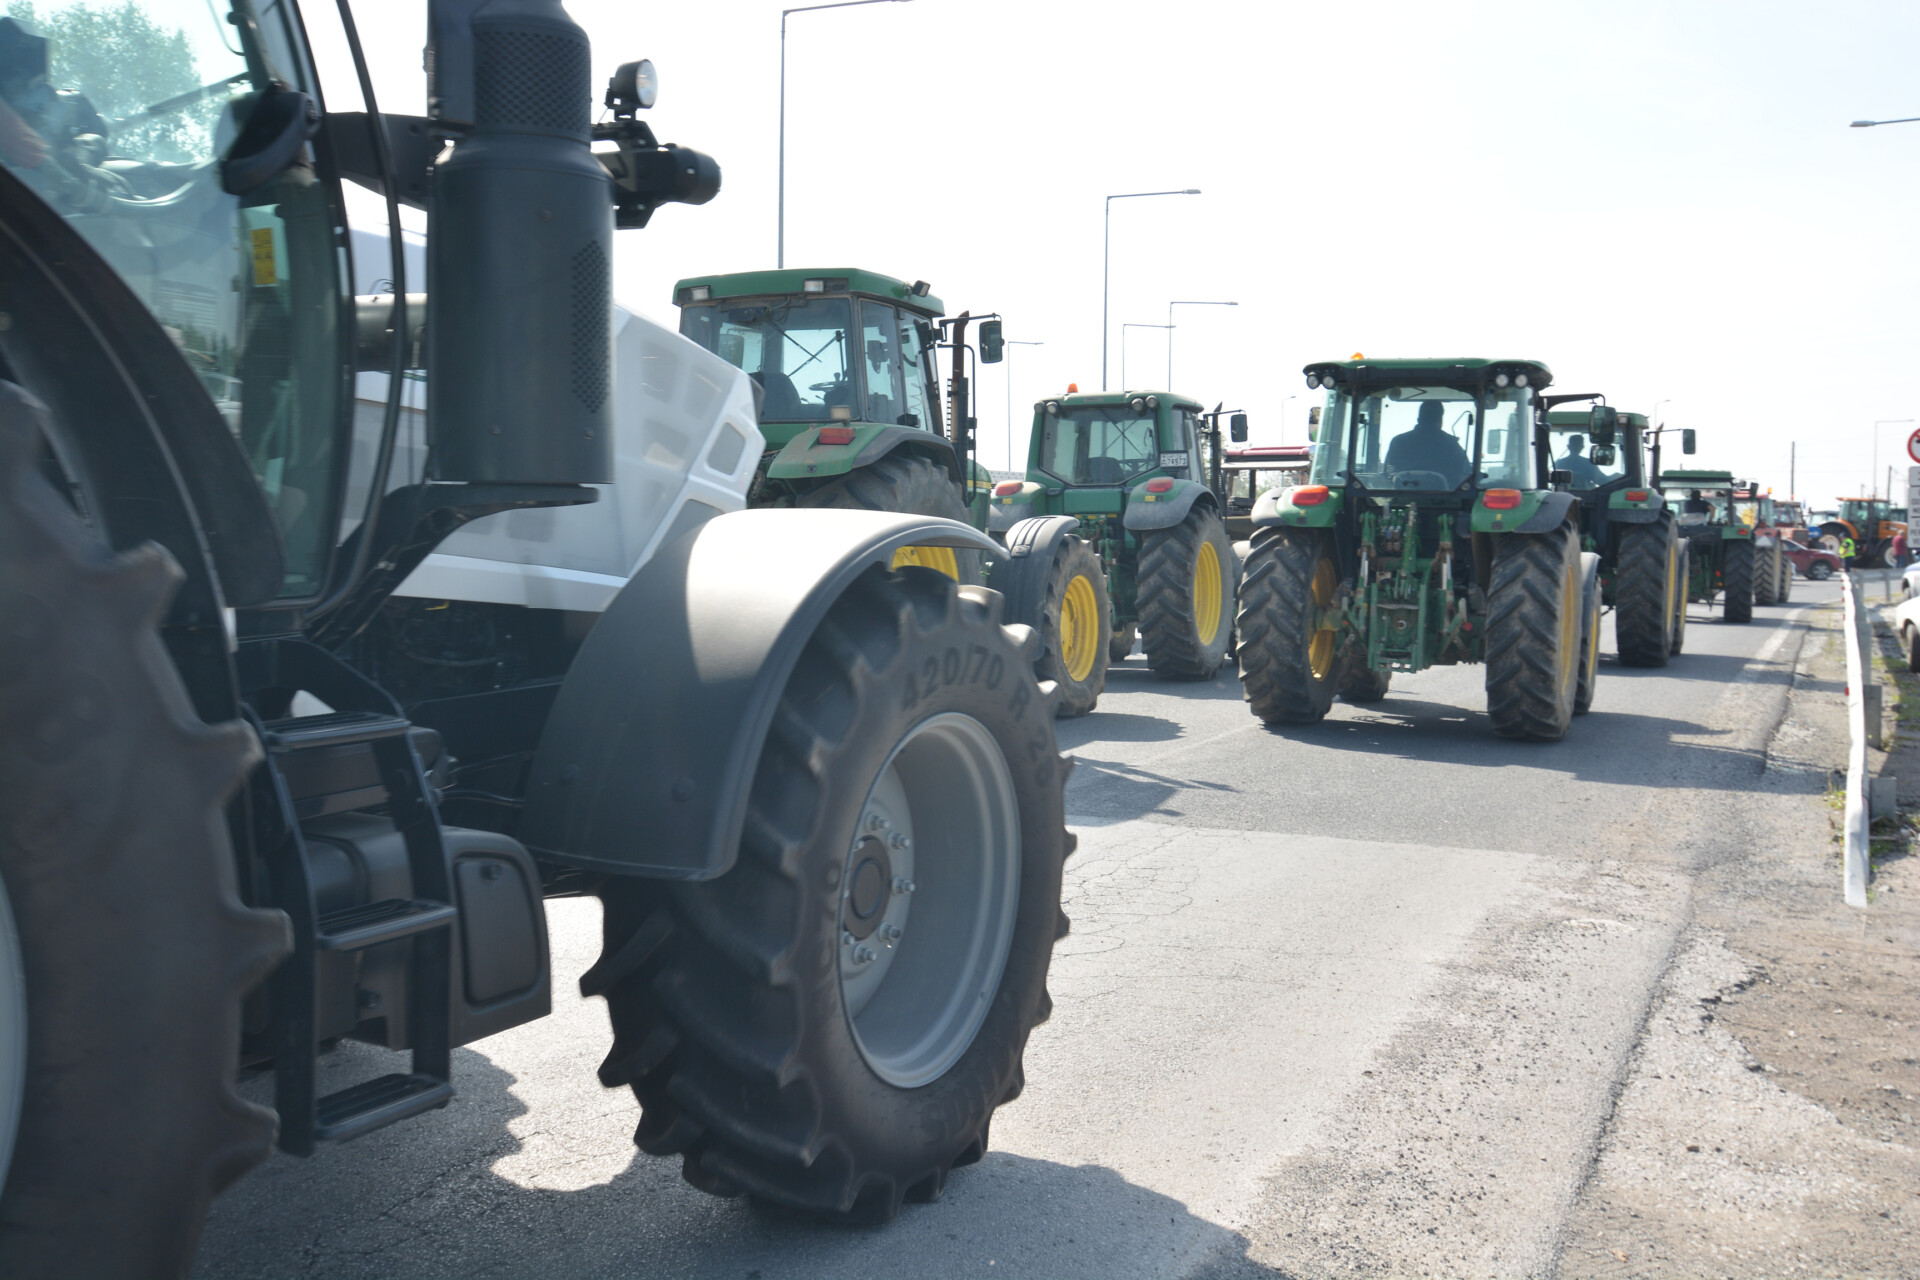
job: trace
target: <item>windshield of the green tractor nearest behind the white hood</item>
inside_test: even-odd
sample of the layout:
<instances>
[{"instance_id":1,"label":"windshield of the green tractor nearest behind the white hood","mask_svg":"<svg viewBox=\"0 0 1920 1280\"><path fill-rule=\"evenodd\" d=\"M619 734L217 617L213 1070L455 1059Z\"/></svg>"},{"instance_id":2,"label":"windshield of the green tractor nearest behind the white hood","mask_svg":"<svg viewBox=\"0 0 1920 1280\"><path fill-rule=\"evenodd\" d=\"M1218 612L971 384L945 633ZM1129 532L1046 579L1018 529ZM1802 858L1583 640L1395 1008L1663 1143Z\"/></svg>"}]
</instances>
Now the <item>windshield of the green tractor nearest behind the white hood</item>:
<instances>
[{"instance_id":1,"label":"windshield of the green tractor nearest behind the white hood","mask_svg":"<svg viewBox=\"0 0 1920 1280\"><path fill-rule=\"evenodd\" d=\"M845 297L797 297L758 305L685 307L680 332L760 384L762 422L828 422L854 405L847 340L852 305ZM876 351L887 376L897 351Z\"/></svg>"}]
</instances>

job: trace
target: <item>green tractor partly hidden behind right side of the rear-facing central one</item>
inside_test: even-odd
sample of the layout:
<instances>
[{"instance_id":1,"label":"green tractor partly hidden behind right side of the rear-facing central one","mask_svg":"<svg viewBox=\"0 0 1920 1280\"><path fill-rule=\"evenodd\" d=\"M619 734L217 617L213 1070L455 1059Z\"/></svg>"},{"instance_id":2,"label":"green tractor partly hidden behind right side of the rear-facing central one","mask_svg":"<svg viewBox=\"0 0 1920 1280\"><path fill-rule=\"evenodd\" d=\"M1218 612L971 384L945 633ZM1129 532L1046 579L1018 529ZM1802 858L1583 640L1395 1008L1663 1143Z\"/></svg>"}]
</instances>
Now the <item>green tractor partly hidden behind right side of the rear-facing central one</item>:
<instances>
[{"instance_id":1,"label":"green tractor partly hidden behind right side of the rear-facing central one","mask_svg":"<svg viewBox=\"0 0 1920 1280\"><path fill-rule=\"evenodd\" d=\"M1597 395L1544 395L1553 482L1580 501L1580 545L1599 555L1599 593L1613 606L1626 666L1667 666L1686 641L1686 541L1647 484L1647 416L1609 405L1555 409ZM1693 432L1682 436L1693 451Z\"/></svg>"}]
</instances>

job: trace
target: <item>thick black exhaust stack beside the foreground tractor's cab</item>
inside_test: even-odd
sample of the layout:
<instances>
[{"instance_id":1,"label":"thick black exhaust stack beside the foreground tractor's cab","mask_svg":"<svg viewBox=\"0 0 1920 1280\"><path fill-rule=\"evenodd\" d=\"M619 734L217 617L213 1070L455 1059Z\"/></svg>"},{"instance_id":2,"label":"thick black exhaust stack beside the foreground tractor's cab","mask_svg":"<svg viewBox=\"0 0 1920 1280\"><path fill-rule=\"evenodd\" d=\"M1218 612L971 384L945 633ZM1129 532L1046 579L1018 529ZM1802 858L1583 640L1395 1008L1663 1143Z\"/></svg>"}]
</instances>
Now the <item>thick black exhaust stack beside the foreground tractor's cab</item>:
<instances>
[{"instance_id":1,"label":"thick black exhaust stack beside the foreground tractor's cab","mask_svg":"<svg viewBox=\"0 0 1920 1280\"><path fill-rule=\"evenodd\" d=\"M612 213L559 0L432 0L426 424L436 480L612 480Z\"/></svg>"}]
</instances>

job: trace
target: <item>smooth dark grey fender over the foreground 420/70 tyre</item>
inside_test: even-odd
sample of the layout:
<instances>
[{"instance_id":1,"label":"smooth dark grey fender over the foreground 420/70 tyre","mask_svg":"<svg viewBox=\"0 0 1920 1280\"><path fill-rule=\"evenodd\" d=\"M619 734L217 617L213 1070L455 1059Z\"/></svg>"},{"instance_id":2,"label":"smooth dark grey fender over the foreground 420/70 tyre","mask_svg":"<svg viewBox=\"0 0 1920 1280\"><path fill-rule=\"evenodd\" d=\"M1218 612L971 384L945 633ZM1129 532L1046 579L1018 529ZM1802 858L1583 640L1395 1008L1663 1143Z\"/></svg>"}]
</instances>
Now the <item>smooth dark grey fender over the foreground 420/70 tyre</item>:
<instances>
[{"instance_id":1,"label":"smooth dark grey fender over the foreground 420/70 tyre","mask_svg":"<svg viewBox=\"0 0 1920 1280\"><path fill-rule=\"evenodd\" d=\"M833 601L900 547L1004 555L935 516L797 509L684 524L593 624L553 702L518 831L540 858L724 875L774 708Z\"/></svg>"}]
</instances>

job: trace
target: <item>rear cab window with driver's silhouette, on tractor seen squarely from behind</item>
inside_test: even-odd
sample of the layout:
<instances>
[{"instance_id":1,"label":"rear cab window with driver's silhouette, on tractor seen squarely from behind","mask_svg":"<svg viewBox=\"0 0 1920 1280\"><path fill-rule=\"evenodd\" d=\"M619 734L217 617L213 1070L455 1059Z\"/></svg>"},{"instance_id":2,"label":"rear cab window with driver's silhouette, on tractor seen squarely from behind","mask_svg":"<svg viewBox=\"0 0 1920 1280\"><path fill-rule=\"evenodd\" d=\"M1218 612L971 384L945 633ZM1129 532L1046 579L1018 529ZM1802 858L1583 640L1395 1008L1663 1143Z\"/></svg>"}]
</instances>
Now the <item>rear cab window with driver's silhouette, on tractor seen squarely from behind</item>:
<instances>
[{"instance_id":1,"label":"rear cab window with driver's silhouette, on tractor seen squarely from behind","mask_svg":"<svg viewBox=\"0 0 1920 1280\"><path fill-rule=\"evenodd\" d=\"M1532 487L1530 403L1526 388L1488 395L1484 413L1473 391L1448 386L1388 388L1357 401L1344 388L1331 391L1313 480L1452 493L1471 487L1478 447L1480 486Z\"/></svg>"}]
</instances>

